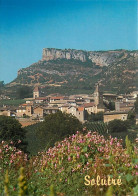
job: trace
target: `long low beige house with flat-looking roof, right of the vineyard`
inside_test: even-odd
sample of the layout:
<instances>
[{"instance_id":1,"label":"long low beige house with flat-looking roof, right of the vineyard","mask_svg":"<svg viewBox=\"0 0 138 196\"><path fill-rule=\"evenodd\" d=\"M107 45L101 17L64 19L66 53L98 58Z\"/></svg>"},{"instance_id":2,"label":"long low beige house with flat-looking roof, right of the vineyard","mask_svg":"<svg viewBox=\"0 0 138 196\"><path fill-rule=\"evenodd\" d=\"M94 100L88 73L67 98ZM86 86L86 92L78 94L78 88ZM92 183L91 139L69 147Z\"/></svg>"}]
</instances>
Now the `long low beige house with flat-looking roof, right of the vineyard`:
<instances>
[{"instance_id":1,"label":"long low beige house with flat-looking roof, right of the vineyard","mask_svg":"<svg viewBox=\"0 0 138 196\"><path fill-rule=\"evenodd\" d=\"M109 121L119 119L119 120L127 120L128 112L105 112L104 113L104 123L108 123Z\"/></svg>"}]
</instances>

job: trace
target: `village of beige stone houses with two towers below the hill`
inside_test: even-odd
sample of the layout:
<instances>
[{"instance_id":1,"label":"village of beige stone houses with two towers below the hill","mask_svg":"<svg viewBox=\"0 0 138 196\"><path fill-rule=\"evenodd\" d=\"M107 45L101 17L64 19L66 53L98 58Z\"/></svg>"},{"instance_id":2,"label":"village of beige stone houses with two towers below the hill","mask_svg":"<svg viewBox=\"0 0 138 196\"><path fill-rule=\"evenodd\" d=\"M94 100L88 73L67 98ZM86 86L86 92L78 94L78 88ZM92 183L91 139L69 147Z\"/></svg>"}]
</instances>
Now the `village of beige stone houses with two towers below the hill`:
<instances>
[{"instance_id":1,"label":"village of beige stone houses with two towers below the hill","mask_svg":"<svg viewBox=\"0 0 138 196\"><path fill-rule=\"evenodd\" d=\"M82 123L87 121L87 114L91 115L99 112L103 112L104 123L114 119L125 121L128 113L134 109L137 95L137 91L127 95L101 93L99 84L97 84L94 93L91 95L63 96L55 93L43 97L41 87L35 86L32 98L25 98L25 103L18 107L4 105L0 108L0 115L15 117L23 127L41 122L46 115L54 114L59 110L72 114ZM114 110L105 107L105 104L108 105L110 102L114 103ZM136 124L138 124L137 115Z\"/></svg>"}]
</instances>

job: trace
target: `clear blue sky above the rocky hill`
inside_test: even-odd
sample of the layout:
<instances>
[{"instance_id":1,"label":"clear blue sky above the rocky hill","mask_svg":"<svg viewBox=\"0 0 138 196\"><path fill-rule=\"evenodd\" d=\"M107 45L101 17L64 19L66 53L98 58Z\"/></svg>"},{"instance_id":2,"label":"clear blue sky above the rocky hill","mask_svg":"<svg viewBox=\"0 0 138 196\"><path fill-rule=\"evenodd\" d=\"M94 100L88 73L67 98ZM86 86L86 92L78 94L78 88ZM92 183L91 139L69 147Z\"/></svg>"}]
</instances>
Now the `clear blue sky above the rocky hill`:
<instances>
[{"instance_id":1,"label":"clear blue sky above the rocky hill","mask_svg":"<svg viewBox=\"0 0 138 196\"><path fill-rule=\"evenodd\" d=\"M0 81L43 48L137 50L137 0L0 0Z\"/></svg>"}]
</instances>

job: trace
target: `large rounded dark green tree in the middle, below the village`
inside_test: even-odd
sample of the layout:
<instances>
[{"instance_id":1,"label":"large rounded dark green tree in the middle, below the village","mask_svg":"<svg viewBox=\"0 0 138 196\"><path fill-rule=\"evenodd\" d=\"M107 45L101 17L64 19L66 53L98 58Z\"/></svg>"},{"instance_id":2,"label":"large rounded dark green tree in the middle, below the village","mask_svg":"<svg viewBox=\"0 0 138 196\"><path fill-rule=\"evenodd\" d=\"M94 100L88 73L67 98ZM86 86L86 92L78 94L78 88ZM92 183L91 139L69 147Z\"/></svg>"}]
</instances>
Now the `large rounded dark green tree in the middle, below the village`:
<instances>
[{"instance_id":1,"label":"large rounded dark green tree in the middle, below the village","mask_svg":"<svg viewBox=\"0 0 138 196\"><path fill-rule=\"evenodd\" d=\"M53 146L56 141L82 130L81 122L71 114L58 111L49 114L37 130L41 148Z\"/></svg>"}]
</instances>

